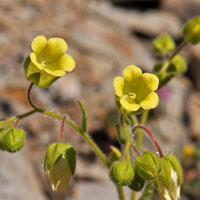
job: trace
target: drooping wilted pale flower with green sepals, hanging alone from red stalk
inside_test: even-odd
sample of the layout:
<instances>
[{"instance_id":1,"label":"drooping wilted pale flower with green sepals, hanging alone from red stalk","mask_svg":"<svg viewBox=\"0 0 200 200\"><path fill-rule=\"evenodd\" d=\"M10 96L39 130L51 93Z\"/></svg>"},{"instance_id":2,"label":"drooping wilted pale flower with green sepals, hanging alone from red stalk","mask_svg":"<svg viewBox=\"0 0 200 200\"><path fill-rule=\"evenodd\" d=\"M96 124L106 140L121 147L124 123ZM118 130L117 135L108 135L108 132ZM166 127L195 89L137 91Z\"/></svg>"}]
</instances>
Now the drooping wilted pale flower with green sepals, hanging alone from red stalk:
<instances>
[{"instance_id":1,"label":"drooping wilted pale flower with green sepals, hanging alone from red stalk","mask_svg":"<svg viewBox=\"0 0 200 200\"><path fill-rule=\"evenodd\" d=\"M76 168L76 151L70 144L54 143L49 145L44 169L48 172L54 191L65 190Z\"/></svg>"}]
</instances>

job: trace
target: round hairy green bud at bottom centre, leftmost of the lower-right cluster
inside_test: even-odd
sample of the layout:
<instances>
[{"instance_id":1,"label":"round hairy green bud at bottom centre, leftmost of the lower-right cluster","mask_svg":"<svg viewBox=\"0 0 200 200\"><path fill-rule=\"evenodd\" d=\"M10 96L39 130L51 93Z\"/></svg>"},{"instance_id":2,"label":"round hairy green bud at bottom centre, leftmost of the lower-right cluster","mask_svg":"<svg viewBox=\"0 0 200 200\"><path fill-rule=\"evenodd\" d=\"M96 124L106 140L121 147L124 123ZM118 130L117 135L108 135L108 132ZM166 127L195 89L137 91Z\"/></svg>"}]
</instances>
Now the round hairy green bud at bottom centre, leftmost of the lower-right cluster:
<instances>
[{"instance_id":1,"label":"round hairy green bud at bottom centre, leftmost of the lower-right cluster","mask_svg":"<svg viewBox=\"0 0 200 200\"><path fill-rule=\"evenodd\" d=\"M134 177L134 169L130 159L116 161L110 168L110 178L117 185L128 185Z\"/></svg>"}]
</instances>

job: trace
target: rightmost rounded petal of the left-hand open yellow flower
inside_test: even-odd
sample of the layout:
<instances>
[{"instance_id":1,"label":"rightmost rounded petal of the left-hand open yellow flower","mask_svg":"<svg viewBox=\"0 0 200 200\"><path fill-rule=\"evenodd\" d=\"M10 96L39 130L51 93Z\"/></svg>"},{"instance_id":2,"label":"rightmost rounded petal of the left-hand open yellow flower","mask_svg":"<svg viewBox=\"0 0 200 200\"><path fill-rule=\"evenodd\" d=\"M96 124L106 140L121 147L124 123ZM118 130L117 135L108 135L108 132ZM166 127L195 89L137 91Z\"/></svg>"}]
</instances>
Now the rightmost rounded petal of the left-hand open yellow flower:
<instances>
[{"instance_id":1,"label":"rightmost rounded petal of the left-hand open yellow flower","mask_svg":"<svg viewBox=\"0 0 200 200\"><path fill-rule=\"evenodd\" d=\"M71 72L75 68L75 61L69 54L64 54L58 61L58 67L67 72Z\"/></svg>"}]
</instances>

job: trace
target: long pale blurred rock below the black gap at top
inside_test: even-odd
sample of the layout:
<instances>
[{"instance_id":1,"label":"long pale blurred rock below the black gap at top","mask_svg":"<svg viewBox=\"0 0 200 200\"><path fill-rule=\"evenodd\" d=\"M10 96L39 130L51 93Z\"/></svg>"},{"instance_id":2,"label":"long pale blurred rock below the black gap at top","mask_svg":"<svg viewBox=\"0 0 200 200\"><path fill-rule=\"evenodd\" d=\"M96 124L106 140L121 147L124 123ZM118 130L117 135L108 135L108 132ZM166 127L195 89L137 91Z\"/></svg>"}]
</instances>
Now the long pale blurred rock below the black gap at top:
<instances>
[{"instance_id":1,"label":"long pale blurred rock below the black gap at top","mask_svg":"<svg viewBox=\"0 0 200 200\"><path fill-rule=\"evenodd\" d=\"M93 4L91 9L93 11L91 16L98 14L108 23L121 26L124 31L139 32L154 37L161 32L168 32L173 37L179 37L181 33L181 21L171 12L158 10L138 12L137 10L114 8L108 2L101 2L98 6Z\"/></svg>"}]
</instances>

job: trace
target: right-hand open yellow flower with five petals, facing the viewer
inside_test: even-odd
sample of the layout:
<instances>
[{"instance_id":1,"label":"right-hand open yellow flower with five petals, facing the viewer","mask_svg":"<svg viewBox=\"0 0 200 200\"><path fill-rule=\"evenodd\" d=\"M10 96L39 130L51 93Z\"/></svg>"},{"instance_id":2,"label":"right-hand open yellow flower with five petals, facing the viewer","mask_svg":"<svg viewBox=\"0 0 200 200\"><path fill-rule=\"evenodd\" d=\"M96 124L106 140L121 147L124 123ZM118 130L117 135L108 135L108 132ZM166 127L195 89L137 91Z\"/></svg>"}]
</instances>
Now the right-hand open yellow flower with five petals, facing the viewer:
<instances>
[{"instance_id":1,"label":"right-hand open yellow flower with five petals, facing the viewer","mask_svg":"<svg viewBox=\"0 0 200 200\"><path fill-rule=\"evenodd\" d=\"M156 75L142 74L142 70L135 65L127 66L123 71L123 77L117 76L113 81L120 105L128 112L155 108L159 101L157 93L154 92L158 84Z\"/></svg>"}]
</instances>

